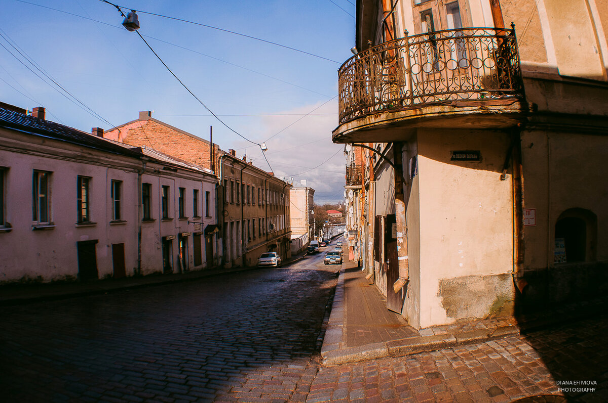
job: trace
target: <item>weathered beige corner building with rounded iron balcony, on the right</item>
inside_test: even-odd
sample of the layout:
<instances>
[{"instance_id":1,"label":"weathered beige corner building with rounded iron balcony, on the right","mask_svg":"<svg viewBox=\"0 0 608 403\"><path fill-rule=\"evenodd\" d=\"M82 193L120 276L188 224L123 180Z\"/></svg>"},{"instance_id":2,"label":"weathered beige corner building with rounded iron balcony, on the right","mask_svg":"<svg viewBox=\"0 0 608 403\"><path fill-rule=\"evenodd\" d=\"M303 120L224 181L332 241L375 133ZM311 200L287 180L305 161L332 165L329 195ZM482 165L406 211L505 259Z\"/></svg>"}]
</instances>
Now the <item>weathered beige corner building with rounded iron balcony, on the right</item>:
<instances>
[{"instance_id":1,"label":"weathered beige corner building with rounded iron balcony, on the right","mask_svg":"<svg viewBox=\"0 0 608 403\"><path fill-rule=\"evenodd\" d=\"M604 3L358 1L333 141L362 161L365 269L414 327L606 291Z\"/></svg>"}]
</instances>

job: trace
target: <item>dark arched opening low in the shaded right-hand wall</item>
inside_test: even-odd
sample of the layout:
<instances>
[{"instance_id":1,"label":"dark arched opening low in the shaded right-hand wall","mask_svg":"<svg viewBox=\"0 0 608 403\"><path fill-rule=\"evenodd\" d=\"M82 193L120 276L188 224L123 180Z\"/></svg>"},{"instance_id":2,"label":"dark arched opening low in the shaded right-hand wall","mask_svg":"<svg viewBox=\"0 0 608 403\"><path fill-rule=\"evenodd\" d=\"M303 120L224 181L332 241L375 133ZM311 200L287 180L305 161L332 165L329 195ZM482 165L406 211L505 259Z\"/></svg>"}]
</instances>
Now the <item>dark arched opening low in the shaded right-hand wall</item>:
<instances>
[{"instance_id":1,"label":"dark arched opening low in the shaded right-hand wall","mask_svg":"<svg viewBox=\"0 0 608 403\"><path fill-rule=\"evenodd\" d=\"M555 263L593 262L597 216L585 209L568 209L555 223Z\"/></svg>"}]
</instances>

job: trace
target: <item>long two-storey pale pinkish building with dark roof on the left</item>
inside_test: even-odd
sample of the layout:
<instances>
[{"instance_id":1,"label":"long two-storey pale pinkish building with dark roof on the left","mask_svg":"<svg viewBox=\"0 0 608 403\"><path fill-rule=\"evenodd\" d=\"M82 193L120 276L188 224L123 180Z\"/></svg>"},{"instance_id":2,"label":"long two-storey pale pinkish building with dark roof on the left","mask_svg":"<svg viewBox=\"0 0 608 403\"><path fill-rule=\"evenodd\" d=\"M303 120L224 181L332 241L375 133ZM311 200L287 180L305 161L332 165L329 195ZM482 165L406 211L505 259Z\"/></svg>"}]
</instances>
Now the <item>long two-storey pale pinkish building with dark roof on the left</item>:
<instances>
[{"instance_id":1,"label":"long two-storey pale pinkish building with dark roof on the left","mask_svg":"<svg viewBox=\"0 0 608 403\"><path fill-rule=\"evenodd\" d=\"M182 273L218 262L215 177L0 107L0 282ZM208 202L207 202L208 201Z\"/></svg>"}]
</instances>

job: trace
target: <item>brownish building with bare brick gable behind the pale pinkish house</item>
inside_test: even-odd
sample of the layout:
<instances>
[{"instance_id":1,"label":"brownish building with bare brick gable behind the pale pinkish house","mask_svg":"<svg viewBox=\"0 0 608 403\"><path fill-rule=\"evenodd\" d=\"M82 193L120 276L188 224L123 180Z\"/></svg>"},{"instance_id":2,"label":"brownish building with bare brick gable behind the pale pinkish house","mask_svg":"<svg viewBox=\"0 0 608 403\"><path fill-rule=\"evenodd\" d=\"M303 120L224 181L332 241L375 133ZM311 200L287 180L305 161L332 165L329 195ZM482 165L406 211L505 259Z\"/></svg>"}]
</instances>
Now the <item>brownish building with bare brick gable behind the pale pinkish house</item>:
<instances>
[{"instance_id":1,"label":"brownish building with bare brick gable behind the pale pinkish house","mask_svg":"<svg viewBox=\"0 0 608 403\"><path fill-rule=\"evenodd\" d=\"M218 206L219 236L224 267L257 265L260 254L277 251L291 257L289 239L289 188L235 152L139 112L137 120L114 127L105 138L138 147L153 147L192 164L201 164L216 175L213 199Z\"/></svg>"}]
</instances>

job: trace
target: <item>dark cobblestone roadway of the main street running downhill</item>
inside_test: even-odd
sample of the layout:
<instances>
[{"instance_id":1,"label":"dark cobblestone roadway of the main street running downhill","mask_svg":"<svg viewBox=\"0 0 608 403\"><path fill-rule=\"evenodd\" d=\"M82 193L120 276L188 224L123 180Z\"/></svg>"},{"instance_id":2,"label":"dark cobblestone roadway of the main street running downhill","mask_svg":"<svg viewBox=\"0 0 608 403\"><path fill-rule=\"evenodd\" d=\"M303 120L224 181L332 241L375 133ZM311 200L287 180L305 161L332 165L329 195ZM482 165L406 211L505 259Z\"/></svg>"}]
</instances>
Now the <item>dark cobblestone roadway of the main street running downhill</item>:
<instances>
[{"instance_id":1,"label":"dark cobblestone roadway of the main street running downhill","mask_svg":"<svg viewBox=\"0 0 608 403\"><path fill-rule=\"evenodd\" d=\"M322 256L0 308L2 402L304 401L336 284Z\"/></svg>"}]
</instances>

